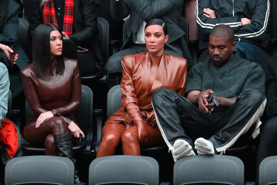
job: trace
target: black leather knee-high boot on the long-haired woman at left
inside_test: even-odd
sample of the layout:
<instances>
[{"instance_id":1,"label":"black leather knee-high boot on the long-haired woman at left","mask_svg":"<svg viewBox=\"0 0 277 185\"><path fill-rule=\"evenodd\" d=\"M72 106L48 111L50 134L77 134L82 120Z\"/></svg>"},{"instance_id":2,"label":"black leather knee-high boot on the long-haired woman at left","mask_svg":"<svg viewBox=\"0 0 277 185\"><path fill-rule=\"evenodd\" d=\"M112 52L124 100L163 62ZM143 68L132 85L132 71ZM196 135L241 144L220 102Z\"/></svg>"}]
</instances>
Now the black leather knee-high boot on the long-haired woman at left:
<instances>
[{"instance_id":1,"label":"black leather knee-high boot on the long-haired woman at left","mask_svg":"<svg viewBox=\"0 0 277 185\"><path fill-rule=\"evenodd\" d=\"M74 172L74 179L75 179L75 184L85 184L82 183L79 180L79 175L78 175L78 171L76 169L76 159L73 158L73 149L72 149L72 136L71 133L63 133L63 134L56 134L54 135L55 138L55 143L57 146L57 152L58 155L61 157L66 157L69 158L73 164L74 164L74 168L75 168L75 172Z\"/></svg>"}]
</instances>

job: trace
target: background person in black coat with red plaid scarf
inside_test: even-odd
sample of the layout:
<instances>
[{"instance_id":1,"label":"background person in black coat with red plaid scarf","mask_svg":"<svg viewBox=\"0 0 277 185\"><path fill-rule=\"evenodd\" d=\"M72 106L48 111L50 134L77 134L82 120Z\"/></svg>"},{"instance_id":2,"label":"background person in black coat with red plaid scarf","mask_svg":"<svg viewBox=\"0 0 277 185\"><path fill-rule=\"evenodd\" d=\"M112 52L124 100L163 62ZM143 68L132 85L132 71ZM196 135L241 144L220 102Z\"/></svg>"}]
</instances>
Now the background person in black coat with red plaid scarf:
<instances>
[{"instance_id":1,"label":"background person in black coat with red plaid scarf","mask_svg":"<svg viewBox=\"0 0 277 185\"><path fill-rule=\"evenodd\" d=\"M103 70L96 14L92 0L24 1L24 18L30 24L28 35L31 42L38 25L55 24L63 31L65 57L78 60L82 76Z\"/></svg>"}]
</instances>

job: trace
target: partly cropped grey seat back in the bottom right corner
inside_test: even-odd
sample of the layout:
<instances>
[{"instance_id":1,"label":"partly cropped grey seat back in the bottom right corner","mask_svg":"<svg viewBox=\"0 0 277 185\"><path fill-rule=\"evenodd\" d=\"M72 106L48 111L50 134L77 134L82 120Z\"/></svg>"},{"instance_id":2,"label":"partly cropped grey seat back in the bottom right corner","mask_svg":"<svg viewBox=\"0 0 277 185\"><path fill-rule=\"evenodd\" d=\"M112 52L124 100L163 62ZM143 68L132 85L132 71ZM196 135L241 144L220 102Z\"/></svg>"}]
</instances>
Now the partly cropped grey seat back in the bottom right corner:
<instances>
[{"instance_id":1,"label":"partly cropped grey seat back in the bottom right corner","mask_svg":"<svg viewBox=\"0 0 277 185\"><path fill-rule=\"evenodd\" d=\"M277 156L265 158L259 167L259 185L277 184Z\"/></svg>"}]
</instances>

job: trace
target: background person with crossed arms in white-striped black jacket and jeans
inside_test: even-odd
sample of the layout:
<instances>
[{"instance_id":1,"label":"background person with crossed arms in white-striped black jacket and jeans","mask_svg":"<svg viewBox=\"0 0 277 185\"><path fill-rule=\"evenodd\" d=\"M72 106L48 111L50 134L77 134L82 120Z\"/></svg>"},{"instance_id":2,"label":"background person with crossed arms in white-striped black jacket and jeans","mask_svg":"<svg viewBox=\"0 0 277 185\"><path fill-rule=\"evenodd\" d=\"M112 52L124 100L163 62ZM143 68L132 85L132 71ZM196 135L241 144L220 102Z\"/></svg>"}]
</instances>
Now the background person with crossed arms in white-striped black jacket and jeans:
<instances>
[{"instance_id":1,"label":"background person with crossed arms in white-striped black jacket and jeans","mask_svg":"<svg viewBox=\"0 0 277 185\"><path fill-rule=\"evenodd\" d=\"M196 22L199 29L199 49L205 50L199 57L208 57L209 33L218 24L229 25L235 32L237 51L244 59L256 62L267 70L269 56L263 49L269 40L267 23L269 0L218 1L196 0Z\"/></svg>"}]
</instances>

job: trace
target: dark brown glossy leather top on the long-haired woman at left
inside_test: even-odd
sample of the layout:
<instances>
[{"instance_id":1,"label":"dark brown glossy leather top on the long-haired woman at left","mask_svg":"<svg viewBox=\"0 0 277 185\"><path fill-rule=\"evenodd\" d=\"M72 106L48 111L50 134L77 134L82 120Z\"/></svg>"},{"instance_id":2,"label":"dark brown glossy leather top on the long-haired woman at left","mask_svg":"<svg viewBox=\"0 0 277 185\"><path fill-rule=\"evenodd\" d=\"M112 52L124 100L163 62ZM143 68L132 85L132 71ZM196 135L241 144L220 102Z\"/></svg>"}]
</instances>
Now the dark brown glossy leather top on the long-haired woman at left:
<instances>
[{"instance_id":1,"label":"dark brown glossy leather top on the long-haired woman at left","mask_svg":"<svg viewBox=\"0 0 277 185\"><path fill-rule=\"evenodd\" d=\"M34 114L27 125L35 123L41 113L51 111L54 116L60 116L69 125L74 121L73 111L80 104L81 79L76 60L65 59L63 75L55 74L44 79L37 78L33 64L20 71L26 100Z\"/></svg>"}]
</instances>

